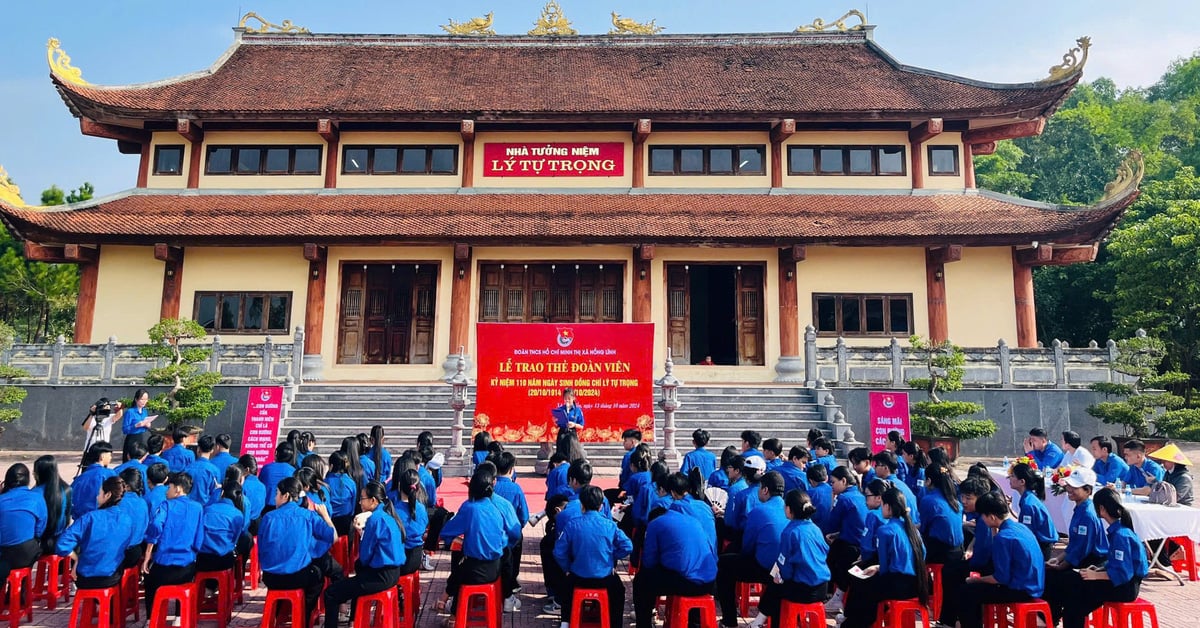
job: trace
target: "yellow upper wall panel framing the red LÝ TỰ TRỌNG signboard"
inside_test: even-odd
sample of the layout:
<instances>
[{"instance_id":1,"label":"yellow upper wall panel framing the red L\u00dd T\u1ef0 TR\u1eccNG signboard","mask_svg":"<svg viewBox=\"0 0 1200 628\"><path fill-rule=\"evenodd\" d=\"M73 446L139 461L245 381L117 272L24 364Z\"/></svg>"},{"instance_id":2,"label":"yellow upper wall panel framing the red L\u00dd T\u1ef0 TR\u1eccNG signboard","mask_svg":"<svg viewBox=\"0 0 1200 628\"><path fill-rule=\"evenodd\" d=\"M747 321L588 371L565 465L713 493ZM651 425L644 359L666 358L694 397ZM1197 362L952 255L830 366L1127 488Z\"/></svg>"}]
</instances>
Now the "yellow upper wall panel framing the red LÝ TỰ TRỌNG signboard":
<instances>
[{"instance_id":1,"label":"yellow upper wall panel framing the red L\u00dd T\u1ef0 TR\u1eccNG signboard","mask_svg":"<svg viewBox=\"0 0 1200 628\"><path fill-rule=\"evenodd\" d=\"M653 136L652 136L653 137ZM491 142L620 142L625 166L620 177L484 177L484 144ZM629 132L480 132L475 133L475 187L631 187L634 139Z\"/></svg>"}]
</instances>

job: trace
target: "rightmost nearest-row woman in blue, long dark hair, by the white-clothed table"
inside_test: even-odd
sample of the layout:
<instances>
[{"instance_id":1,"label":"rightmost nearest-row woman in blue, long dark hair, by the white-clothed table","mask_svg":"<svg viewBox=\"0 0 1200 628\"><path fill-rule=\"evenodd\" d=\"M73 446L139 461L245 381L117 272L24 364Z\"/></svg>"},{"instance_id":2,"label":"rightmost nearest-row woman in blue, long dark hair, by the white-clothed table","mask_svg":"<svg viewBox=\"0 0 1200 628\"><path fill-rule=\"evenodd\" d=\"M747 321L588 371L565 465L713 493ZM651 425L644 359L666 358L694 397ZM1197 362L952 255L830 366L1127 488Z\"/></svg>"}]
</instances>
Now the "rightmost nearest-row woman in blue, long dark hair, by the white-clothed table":
<instances>
[{"instance_id":1,"label":"rightmost nearest-row woman in blue, long dark hair, by the white-clothed table","mask_svg":"<svg viewBox=\"0 0 1200 628\"><path fill-rule=\"evenodd\" d=\"M1063 628L1084 628L1087 616L1108 602L1129 603L1138 599L1141 579L1150 566L1146 548L1133 531L1129 512L1112 489L1096 494L1096 512L1108 526L1109 556L1104 567L1081 569L1080 586L1073 588L1064 602Z\"/></svg>"}]
</instances>

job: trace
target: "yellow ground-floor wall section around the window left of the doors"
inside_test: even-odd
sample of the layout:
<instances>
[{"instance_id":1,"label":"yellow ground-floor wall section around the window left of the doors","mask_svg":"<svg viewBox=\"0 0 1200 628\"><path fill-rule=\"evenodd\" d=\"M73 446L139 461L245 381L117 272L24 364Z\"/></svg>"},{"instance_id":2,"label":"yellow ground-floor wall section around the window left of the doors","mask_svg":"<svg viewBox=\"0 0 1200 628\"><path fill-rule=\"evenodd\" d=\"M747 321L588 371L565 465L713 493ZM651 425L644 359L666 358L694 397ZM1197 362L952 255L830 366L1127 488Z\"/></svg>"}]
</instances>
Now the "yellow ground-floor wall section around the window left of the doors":
<instances>
[{"instance_id":1,"label":"yellow ground-floor wall section around the window left of the doors","mask_svg":"<svg viewBox=\"0 0 1200 628\"><path fill-rule=\"evenodd\" d=\"M308 262L296 246L223 247L188 246L184 251L184 285L179 316L196 316L196 293L211 291L290 292L289 331L275 335L275 342L289 342L292 330L304 327L308 301ZM156 310L157 311L157 310ZM220 333L221 342L242 345L263 342L265 335Z\"/></svg>"}]
</instances>

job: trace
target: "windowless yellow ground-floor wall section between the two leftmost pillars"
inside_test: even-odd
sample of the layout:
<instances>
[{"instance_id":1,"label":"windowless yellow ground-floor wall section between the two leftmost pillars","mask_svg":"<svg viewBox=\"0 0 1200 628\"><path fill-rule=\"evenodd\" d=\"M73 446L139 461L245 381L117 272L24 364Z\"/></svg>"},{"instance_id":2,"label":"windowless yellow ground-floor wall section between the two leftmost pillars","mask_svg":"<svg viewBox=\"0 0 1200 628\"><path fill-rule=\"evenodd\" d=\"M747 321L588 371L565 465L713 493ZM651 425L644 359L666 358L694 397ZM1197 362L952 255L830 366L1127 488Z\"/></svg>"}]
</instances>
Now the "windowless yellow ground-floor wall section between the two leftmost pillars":
<instances>
[{"instance_id":1,"label":"windowless yellow ground-floor wall section between the two leftmost pillars","mask_svg":"<svg viewBox=\"0 0 1200 628\"><path fill-rule=\"evenodd\" d=\"M162 270L152 246L100 247L92 343L108 342L108 336L122 343L150 341L146 330L162 309Z\"/></svg>"}]
</instances>

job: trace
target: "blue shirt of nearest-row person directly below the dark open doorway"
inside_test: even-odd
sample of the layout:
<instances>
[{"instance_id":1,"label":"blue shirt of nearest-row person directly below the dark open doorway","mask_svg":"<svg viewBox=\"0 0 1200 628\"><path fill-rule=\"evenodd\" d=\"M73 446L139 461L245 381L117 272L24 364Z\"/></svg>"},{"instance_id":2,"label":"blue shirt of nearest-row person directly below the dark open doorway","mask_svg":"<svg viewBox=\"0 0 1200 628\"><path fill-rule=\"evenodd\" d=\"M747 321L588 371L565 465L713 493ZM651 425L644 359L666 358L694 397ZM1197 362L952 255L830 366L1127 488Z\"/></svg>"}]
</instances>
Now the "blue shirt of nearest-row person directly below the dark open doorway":
<instances>
[{"instance_id":1,"label":"blue shirt of nearest-row person directly below the dark open doorway","mask_svg":"<svg viewBox=\"0 0 1200 628\"><path fill-rule=\"evenodd\" d=\"M716 580L716 552L694 540L703 534L695 519L678 510L667 510L646 526L642 567L661 566L691 584L710 585Z\"/></svg>"}]
</instances>

